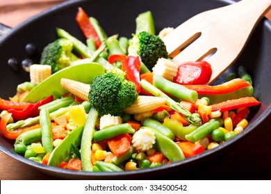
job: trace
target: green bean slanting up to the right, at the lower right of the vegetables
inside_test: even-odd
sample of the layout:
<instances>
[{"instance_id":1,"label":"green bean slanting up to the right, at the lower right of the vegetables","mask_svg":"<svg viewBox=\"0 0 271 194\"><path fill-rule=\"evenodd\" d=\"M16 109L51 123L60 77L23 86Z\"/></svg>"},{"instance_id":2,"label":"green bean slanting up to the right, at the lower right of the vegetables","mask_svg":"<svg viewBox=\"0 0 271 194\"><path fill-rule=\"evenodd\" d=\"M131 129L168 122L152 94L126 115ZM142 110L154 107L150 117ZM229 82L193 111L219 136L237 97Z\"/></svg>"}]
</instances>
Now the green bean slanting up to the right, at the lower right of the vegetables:
<instances>
[{"instance_id":1,"label":"green bean slanting up to the right, at the lower right of the vegetables","mask_svg":"<svg viewBox=\"0 0 271 194\"><path fill-rule=\"evenodd\" d=\"M222 118L212 118L207 123L204 123L202 126L197 127L196 130L186 134L186 139L188 141L196 142L199 139L204 138L206 135L211 134L211 132L218 127L223 125Z\"/></svg>"}]
</instances>

